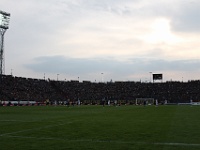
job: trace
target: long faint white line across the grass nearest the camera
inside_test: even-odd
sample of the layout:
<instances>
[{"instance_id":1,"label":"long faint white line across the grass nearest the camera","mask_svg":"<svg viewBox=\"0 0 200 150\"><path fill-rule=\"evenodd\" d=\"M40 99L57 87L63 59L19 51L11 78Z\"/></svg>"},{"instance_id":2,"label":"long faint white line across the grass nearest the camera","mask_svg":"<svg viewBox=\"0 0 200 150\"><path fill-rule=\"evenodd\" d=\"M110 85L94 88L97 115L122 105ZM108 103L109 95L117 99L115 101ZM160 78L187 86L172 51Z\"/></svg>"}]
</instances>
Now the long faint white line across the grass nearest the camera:
<instances>
[{"instance_id":1,"label":"long faint white line across the grass nearest the camera","mask_svg":"<svg viewBox=\"0 0 200 150\"><path fill-rule=\"evenodd\" d=\"M59 140L67 142L92 142L92 143L119 143L119 144L151 144L151 145L166 145L166 146L188 146L188 147L200 147L200 144L194 143L168 143L168 142L136 142L136 141L119 141L119 140L95 140L95 139L64 139L64 138L53 138L53 137L33 137L33 136L12 136L4 135L8 138L23 138L23 139L39 139L39 140Z\"/></svg>"}]
</instances>

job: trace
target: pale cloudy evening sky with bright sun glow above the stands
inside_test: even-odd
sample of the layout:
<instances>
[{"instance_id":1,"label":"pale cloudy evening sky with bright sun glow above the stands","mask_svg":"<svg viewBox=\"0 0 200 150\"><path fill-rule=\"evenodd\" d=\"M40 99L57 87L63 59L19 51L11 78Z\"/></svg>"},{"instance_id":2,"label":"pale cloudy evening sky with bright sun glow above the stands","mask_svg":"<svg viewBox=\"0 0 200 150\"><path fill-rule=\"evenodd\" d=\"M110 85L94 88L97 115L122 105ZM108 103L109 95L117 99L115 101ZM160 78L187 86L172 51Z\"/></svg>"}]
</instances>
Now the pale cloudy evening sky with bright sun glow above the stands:
<instances>
[{"instance_id":1,"label":"pale cloudy evening sky with bright sun glow above the stands","mask_svg":"<svg viewBox=\"0 0 200 150\"><path fill-rule=\"evenodd\" d=\"M198 0L0 0L5 74L52 80L200 79Z\"/></svg>"}]
</instances>

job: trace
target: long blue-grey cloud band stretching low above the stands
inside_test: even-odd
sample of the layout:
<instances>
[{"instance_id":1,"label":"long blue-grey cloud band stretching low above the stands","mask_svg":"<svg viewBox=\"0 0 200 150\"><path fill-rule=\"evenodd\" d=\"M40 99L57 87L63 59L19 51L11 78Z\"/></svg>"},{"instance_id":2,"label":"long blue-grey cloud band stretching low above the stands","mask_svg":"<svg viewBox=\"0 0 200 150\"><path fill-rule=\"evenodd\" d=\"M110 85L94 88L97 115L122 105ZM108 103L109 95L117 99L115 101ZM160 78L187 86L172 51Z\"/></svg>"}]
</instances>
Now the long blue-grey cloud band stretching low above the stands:
<instances>
[{"instance_id":1,"label":"long blue-grey cloud band stretching low above the stands","mask_svg":"<svg viewBox=\"0 0 200 150\"><path fill-rule=\"evenodd\" d=\"M110 74L136 74L137 72L192 71L198 69L200 60L174 60L132 58L118 61L114 58L70 58L63 56L38 57L34 63L25 66L35 72L57 72L69 74L92 74L108 72Z\"/></svg>"}]
</instances>

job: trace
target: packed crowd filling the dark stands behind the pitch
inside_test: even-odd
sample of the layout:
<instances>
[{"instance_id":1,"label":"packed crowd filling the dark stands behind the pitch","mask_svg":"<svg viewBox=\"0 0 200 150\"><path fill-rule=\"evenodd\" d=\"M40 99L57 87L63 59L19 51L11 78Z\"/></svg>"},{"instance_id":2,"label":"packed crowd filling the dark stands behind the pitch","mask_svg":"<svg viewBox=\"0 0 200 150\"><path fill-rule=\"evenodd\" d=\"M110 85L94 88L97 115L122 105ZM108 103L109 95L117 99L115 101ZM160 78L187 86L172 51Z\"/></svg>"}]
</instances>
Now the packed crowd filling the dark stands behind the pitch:
<instances>
[{"instance_id":1,"label":"packed crowd filling the dark stands behind the pitch","mask_svg":"<svg viewBox=\"0 0 200 150\"><path fill-rule=\"evenodd\" d=\"M160 103L187 103L200 100L200 81L188 82L107 82L52 81L1 76L0 101L30 100L37 102L124 100L154 98Z\"/></svg>"}]
</instances>

